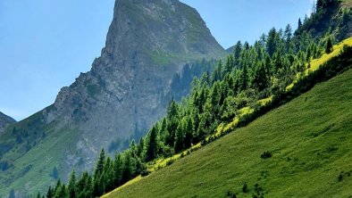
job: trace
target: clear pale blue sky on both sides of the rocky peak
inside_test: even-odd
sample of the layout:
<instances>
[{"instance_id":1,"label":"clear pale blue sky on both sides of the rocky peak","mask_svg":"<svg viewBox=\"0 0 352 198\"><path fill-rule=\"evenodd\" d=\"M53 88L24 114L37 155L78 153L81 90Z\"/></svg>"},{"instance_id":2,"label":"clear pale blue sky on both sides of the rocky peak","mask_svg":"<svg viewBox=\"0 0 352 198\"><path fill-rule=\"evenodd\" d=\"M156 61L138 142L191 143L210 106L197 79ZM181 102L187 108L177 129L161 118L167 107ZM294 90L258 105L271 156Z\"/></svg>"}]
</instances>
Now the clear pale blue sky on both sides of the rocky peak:
<instances>
[{"instance_id":1,"label":"clear pale blue sky on both sides of the rocky peak","mask_svg":"<svg viewBox=\"0 0 352 198\"><path fill-rule=\"evenodd\" d=\"M294 29L311 0L181 0L224 47L272 27ZM21 120L54 103L105 45L114 0L1 0L0 111Z\"/></svg>"}]
</instances>

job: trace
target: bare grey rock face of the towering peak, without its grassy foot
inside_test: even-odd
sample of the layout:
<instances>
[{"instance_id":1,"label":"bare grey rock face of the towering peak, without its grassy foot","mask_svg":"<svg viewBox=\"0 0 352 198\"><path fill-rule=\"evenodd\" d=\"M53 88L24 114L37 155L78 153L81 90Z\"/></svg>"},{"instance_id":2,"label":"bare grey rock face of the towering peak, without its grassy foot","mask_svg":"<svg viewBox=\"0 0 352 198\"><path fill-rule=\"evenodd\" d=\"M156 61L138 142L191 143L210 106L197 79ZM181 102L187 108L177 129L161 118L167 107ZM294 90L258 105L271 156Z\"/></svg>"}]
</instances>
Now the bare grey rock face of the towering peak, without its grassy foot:
<instances>
[{"instance_id":1,"label":"bare grey rock face of the towering peak, without its grassy foot","mask_svg":"<svg viewBox=\"0 0 352 198\"><path fill-rule=\"evenodd\" d=\"M172 75L186 62L223 54L188 5L176 0L118 0L101 57L71 87L63 87L54 111L45 111L46 122L63 120L64 125L77 126L95 154L112 137L126 139L163 115Z\"/></svg>"}]
</instances>

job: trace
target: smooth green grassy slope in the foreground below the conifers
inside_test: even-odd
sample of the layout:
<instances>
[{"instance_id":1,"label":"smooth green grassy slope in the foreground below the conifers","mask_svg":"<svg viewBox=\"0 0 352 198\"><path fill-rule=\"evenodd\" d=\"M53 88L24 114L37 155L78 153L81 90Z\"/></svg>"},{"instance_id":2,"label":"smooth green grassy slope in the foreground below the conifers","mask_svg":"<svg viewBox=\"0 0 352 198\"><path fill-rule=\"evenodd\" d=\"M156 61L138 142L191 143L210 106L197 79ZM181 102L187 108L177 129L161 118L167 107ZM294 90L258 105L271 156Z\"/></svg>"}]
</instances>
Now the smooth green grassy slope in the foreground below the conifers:
<instances>
[{"instance_id":1,"label":"smooth green grassy slope in the foreground below the conifers","mask_svg":"<svg viewBox=\"0 0 352 198\"><path fill-rule=\"evenodd\" d=\"M107 197L352 195L352 70ZM264 151L273 157L262 160ZM341 171L343 179L339 182ZM247 182L250 193L241 188Z\"/></svg>"}]
</instances>

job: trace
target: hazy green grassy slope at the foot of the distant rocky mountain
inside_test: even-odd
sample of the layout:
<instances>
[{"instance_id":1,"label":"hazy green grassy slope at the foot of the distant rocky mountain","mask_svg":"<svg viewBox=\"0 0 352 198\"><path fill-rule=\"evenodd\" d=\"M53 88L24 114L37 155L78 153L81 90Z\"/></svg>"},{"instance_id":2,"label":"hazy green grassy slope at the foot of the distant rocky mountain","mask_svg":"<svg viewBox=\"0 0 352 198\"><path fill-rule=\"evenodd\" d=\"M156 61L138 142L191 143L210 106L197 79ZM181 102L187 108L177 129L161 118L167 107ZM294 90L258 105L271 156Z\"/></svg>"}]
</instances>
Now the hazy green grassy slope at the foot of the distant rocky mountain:
<instances>
[{"instance_id":1,"label":"hazy green grassy slope at the foot of the distant rocky mountain","mask_svg":"<svg viewBox=\"0 0 352 198\"><path fill-rule=\"evenodd\" d=\"M28 123L38 123L40 120L39 113L14 124L16 128L25 128L29 130ZM5 153L0 161L9 161L11 168L7 171L0 171L0 197L5 197L11 189L28 191L32 194L37 194L38 191L46 191L48 185L54 185L56 179L50 177L54 167L59 169L67 169L63 164L66 160L65 154L74 149L75 142L78 139L78 131L67 128L55 130L53 124L41 128L38 123L37 129L29 130L30 143L37 142L28 152L23 149L23 144L26 144L26 139L22 144L14 144L11 135L11 128L4 134L7 136L0 143L4 144L7 140L8 144L12 144L13 148ZM33 130L46 131L46 137L40 139L32 138ZM38 132L40 135L41 132ZM55 156L55 157L54 157ZM58 166L58 164L61 164ZM61 175L61 178L67 176ZM19 179L21 178L21 179Z\"/></svg>"}]
</instances>

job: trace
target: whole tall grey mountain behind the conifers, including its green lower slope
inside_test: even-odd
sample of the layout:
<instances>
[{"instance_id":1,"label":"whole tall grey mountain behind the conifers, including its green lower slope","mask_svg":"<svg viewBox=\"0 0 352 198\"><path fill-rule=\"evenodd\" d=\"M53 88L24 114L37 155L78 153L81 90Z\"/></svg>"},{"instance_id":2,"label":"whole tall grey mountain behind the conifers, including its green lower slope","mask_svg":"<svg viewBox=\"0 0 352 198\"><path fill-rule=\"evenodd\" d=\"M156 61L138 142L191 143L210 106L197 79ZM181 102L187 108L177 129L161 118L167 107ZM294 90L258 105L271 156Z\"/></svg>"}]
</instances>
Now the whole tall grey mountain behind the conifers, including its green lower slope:
<instances>
[{"instance_id":1,"label":"whole tall grey mountain behind the conifers, including its green lower slope","mask_svg":"<svg viewBox=\"0 0 352 198\"><path fill-rule=\"evenodd\" d=\"M122 150L165 113L172 76L185 63L225 54L188 5L117 0L92 69L0 139L0 159L9 164L0 174L0 196L10 189L37 193L73 167L91 169L102 147Z\"/></svg>"}]
</instances>

